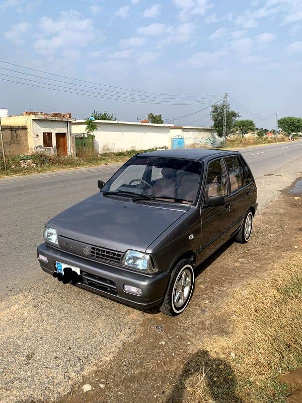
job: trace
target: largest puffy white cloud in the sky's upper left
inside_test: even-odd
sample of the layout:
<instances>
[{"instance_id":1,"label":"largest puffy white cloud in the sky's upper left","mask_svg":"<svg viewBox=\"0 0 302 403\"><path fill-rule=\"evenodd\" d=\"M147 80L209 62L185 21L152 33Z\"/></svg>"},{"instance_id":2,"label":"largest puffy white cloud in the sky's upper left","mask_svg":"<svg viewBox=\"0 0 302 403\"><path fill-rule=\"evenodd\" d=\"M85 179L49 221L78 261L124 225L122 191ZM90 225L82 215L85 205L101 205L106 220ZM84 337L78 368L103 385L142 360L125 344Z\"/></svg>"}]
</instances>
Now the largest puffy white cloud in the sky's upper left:
<instances>
[{"instance_id":1,"label":"largest puffy white cloud in the sky's upper left","mask_svg":"<svg viewBox=\"0 0 302 403\"><path fill-rule=\"evenodd\" d=\"M43 36L34 43L34 49L44 55L65 54L73 49L101 40L101 35L96 35L93 21L89 18L82 19L82 15L76 11L61 12L56 19L42 17L38 24ZM37 32L39 32L37 31Z\"/></svg>"}]
</instances>

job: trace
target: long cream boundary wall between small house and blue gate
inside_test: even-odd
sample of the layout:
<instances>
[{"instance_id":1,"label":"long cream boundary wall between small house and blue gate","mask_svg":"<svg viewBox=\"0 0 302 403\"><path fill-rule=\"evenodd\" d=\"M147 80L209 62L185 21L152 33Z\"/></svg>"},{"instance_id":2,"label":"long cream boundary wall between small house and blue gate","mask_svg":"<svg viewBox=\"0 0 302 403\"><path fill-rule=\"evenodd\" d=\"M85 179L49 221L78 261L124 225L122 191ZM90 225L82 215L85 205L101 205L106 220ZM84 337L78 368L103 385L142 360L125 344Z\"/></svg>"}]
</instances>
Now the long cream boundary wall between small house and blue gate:
<instances>
[{"instance_id":1,"label":"long cream boundary wall between small house and blue gate","mask_svg":"<svg viewBox=\"0 0 302 403\"><path fill-rule=\"evenodd\" d=\"M97 122L94 131L97 153L108 151L147 150L149 148L171 148L170 126L146 123L103 123ZM72 122L72 135L84 133L84 122Z\"/></svg>"}]
</instances>

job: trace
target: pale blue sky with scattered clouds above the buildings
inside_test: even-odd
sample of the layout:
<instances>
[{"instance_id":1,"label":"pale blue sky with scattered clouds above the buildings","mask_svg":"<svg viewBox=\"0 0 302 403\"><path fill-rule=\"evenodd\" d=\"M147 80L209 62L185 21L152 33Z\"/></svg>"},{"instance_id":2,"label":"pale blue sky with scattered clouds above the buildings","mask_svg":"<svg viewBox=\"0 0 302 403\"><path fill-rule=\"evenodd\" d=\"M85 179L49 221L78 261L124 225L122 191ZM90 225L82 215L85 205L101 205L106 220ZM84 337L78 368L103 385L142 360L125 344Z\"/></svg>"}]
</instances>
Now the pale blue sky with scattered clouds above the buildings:
<instances>
[{"instance_id":1,"label":"pale blue sky with scattered clouds above the buildings","mask_svg":"<svg viewBox=\"0 0 302 403\"><path fill-rule=\"evenodd\" d=\"M0 26L11 115L153 112L207 126L225 92L258 127L302 115L301 0L0 0Z\"/></svg>"}]
</instances>

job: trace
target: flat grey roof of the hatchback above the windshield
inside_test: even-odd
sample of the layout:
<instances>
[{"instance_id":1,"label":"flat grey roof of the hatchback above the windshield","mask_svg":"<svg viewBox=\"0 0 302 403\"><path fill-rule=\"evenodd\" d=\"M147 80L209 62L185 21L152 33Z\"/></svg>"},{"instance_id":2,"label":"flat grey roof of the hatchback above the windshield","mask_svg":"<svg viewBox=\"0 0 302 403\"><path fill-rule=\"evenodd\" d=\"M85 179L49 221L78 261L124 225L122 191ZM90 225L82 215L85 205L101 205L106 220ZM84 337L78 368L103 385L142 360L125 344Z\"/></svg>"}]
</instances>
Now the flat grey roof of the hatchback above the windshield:
<instances>
[{"instance_id":1,"label":"flat grey roof of the hatchback above the windshield","mask_svg":"<svg viewBox=\"0 0 302 403\"><path fill-rule=\"evenodd\" d=\"M138 154L140 157L181 158L186 160L203 160L206 157L227 156L238 154L238 151L207 148L181 148L172 150L156 150Z\"/></svg>"}]
</instances>

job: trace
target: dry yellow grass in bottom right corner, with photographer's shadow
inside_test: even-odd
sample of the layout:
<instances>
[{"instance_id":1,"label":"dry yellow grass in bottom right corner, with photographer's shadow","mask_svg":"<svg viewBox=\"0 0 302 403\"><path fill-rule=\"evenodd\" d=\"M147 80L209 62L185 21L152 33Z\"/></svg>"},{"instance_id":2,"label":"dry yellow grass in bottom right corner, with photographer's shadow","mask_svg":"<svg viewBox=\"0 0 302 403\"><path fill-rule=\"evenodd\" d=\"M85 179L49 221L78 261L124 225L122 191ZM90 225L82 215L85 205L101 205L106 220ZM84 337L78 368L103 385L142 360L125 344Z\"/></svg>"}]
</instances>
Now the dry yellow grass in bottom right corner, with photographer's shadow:
<instances>
[{"instance_id":1,"label":"dry yellow grass in bottom right corner, with photographer's shadow","mask_svg":"<svg viewBox=\"0 0 302 403\"><path fill-rule=\"evenodd\" d=\"M237 291L226 309L231 335L211 338L187 364L189 401L285 402L279 374L302 366L302 256Z\"/></svg>"}]
</instances>

